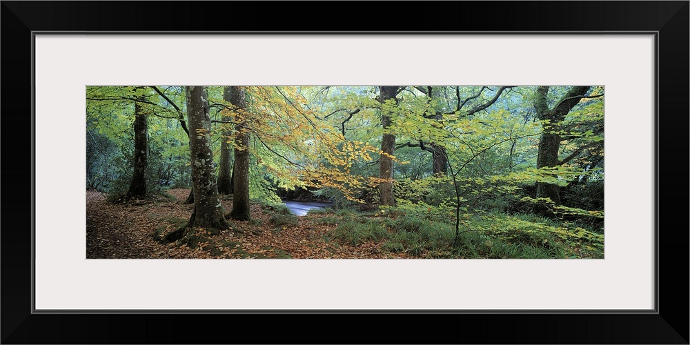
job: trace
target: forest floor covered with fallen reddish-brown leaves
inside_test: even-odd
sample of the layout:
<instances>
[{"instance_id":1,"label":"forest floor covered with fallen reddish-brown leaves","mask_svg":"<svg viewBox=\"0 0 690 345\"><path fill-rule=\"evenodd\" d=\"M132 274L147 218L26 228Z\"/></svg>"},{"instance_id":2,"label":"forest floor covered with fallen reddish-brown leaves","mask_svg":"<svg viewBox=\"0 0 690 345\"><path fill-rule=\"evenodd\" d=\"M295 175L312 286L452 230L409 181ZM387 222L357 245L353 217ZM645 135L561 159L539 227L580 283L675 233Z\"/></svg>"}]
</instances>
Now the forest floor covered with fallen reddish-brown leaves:
<instances>
[{"instance_id":1,"label":"forest floor covered with fallen reddish-brown leaves","mask_svg":"<svg viewBox=\"0 0 690 345\"><path fill-rule=\"evenodd\" d=\"M251 221L229 221L230 230L200 236L186 244L156 240L188 221L193 205L183 204L189 189L171 189L172 198L155 197L110 204L106 194L86 192L86 257L89 259L193 259L193 258L395 258L407 253L380 250L383 241L349 246L324 240L337 224L319 221L323 215L281 215L259 204L251 206ZM226 212L231 197L221 197ZM199 235L204 235L199 231Z\"/></svg>"}]
</instances>

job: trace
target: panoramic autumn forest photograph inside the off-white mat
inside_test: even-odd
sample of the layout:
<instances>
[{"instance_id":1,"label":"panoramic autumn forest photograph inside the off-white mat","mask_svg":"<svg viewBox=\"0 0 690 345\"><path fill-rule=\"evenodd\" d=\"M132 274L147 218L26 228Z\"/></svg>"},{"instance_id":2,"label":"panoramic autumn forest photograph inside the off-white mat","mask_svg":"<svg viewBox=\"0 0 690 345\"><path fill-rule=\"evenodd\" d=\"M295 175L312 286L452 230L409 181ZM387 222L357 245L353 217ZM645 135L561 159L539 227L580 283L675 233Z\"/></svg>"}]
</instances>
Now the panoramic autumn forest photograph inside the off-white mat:
<instances>
[{"instance_id":1,"label":"panoramic autumn forest photograph inside the off-white mat","mask_svg":"<svg viewBox=\"0 0 690 345\"><path fill-rule=\"evenodd\" d=\"M602 259L603 86L87 86L86 257Z\"/></svg>"}]
</instances>

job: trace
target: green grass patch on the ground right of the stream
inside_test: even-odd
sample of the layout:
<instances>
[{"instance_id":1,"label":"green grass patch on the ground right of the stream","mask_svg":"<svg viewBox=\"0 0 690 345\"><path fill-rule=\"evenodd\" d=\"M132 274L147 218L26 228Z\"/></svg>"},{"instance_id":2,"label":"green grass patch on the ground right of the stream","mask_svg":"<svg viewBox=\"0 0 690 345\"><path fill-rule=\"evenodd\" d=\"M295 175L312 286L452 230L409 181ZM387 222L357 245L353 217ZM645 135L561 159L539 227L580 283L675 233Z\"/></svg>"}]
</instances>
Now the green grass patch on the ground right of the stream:
<instances>
[{"instance_id":1,"label":"green grass patch on the ground right of the stream","mask_svg":"<svg viewBox=\"0 0 690 345\"><path fill-rule=\"evenodd\" d=\"M538 215L467 214L455 239L453 219L438 221L390 210L364 217L340 211L318 224L337 224L324 240L357 246L380 242L381 250L420 258L555 259L602 258L604 237Z\"/></svg>"}]
</instances>

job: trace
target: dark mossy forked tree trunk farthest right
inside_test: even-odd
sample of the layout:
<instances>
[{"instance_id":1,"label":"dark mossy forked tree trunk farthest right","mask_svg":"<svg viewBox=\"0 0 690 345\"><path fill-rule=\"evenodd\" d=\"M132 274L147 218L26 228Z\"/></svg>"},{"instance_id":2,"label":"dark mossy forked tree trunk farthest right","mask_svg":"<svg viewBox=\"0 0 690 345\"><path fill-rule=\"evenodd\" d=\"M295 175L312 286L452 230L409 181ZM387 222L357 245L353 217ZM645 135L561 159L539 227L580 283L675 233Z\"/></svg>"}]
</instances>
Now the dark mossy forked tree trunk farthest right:
<instances>
[{"instance_id":1,"label":"dark mossy forked tree trunk farthest right","mask_svg":"<svg viewBox=\"0 0 690 345\"><path fill-rule=\"evenodd\" d=\"M558 166L558 150L560 148L561 137L556 134L560 128L558 122L563 121L575 104L580 102L582 96L589 90L589 86L573 86L566 95L556 103L553 108L549 108L546 103L546 95L549 93L549 86L540 86L537 89L535 99L535 109L538 119L549 120L549 124L544 124L544 132L539 140L537 151L537 168ZM578 97L580 96L580 97ZM537 184L537 197L548 197L556 205L560 205L560 187L557 184Z\"/></svg>"}]
</instances>

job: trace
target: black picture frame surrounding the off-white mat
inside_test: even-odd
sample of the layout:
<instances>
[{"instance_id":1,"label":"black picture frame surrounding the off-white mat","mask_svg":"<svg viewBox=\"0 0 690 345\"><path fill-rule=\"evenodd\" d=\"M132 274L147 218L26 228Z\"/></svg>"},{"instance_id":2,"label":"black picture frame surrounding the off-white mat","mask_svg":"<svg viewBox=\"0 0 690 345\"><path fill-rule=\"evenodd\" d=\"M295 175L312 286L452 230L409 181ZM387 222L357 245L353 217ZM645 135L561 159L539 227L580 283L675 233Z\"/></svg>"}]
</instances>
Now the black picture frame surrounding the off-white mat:
<instances>
[{"instance_id":1,"label":"black picture frame surrounding the off-white mat","mask_svg":"<svg viewBox=\"0 0 690 345\"><path fill-rule=\"evenodd\" d=\"M689 1L1 3L3 344L689 344ZM656 32L656 312L32 313L32 32L265 30Z\"/></svg>"}]
</instances>

